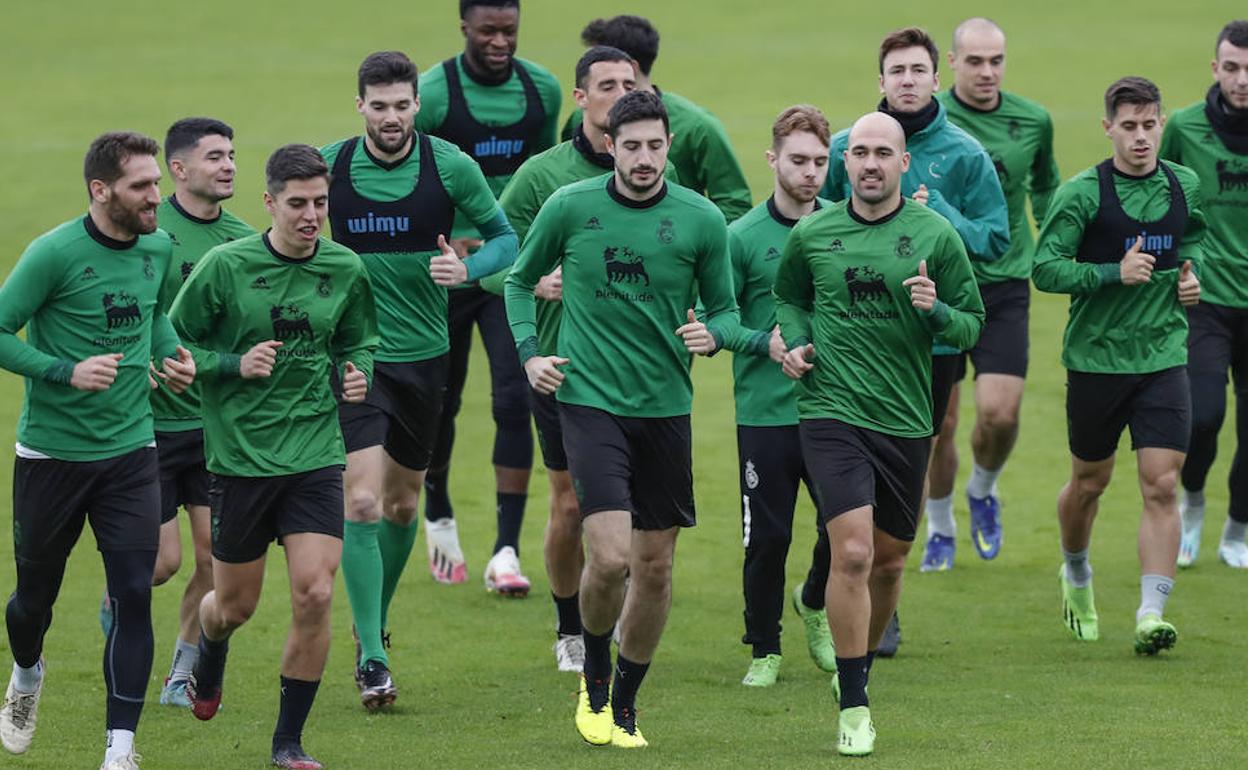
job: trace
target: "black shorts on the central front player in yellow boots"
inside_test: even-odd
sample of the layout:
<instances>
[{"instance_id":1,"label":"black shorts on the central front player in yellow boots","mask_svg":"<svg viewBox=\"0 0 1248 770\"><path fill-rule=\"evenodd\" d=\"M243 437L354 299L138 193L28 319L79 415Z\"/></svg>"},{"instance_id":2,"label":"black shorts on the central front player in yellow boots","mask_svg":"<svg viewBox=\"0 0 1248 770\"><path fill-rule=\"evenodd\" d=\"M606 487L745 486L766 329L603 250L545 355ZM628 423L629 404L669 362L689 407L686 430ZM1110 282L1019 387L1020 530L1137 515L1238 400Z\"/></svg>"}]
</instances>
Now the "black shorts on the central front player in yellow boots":
<instances>
[{"instance_id":1,"label":"black shorts on the central front player in yellow boots","mask_svg":"<svg viewBox=\"0 0 1248 770\"><path fill-rule=\"evenodd\" d=\"M582 518L628 510L633 529L696 523L688 414L617 417L560 403L559 422Z\"/></svg>"}]
</instances>

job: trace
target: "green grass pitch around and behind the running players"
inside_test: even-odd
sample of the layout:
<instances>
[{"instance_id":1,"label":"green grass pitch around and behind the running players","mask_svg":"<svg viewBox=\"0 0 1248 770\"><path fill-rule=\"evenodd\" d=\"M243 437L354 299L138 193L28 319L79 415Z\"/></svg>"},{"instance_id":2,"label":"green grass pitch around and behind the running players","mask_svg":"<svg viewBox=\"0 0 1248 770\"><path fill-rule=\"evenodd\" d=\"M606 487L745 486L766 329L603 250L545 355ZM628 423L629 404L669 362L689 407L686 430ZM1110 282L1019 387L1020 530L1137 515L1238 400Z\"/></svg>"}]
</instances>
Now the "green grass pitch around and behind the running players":
<instances>
[{"instance_id":1,"label":"green grass pitch around and behind the running players","mask_svg":"<svg viewBox=\"0 0 1248 770\"><path fill-rule=\"evenodd\" d=\"M428 69L457 52L454 6L449 0L386 0L358 9L238 0L7 4L0 37L6 74L0 81L6 105L0 111L0 168L10 181L0 190L0 275L7 275L31 238L84 211L82 152L110 129L163 136L171 121L186 115L227 120L237 131L240 168L230 207L262 225L260 191L268 152L288 141L319 145L358 132L352 97L359 60L373 50L403 49ZM1169 107L1203 97L1213 37L1243 7L1159 0L1142 0L1129 11L1119 4L1073 0L998 6L963 0L885 6L530 0L524 4L519 52L567 82L583 24L625 11L656 22L664 40L656 82L724 120L761 200L770 187L763 150L774 116L809 101L840 127L872 109L876 44L894 27L921 24L943 49L958 20L996 14L1010 36L1006 86L1052 111L1058 162L1068 177L1109 151L1098 126L1101 94L1109 81L1127 74L1149 76ZM1131 651L1138 493L1126 446L1093 545L1103 638L1077 645L1058 626L1053 502L1068 470L1058 362L1065 306L1065 300L1048 296L1037 296L1033 305L1023 432L1001 484L1001 557L992 563L973 557L960 505L957 568L920 575L912 559L902 597L901 654L877 664L872 676L880 736L871 763L877 766L1248 766L1248 575L1213 558L1227 503L1229 434L1223 434L1211 475L1202 560L1181 574L1168 608L1181 633L1178 648L1147 660ZM497 600L479 583L493 540L493 427L484 361L474 358L473 367L453 474L473 579L456 588L436 585L423 564L423 537L417 543L391 613L392 661L402 696L393 713L377 716L361 710L351 683L349 612L338 592L336 641L307 748L333 768L806 768L836 761L829 679L806 658L791 613L785 618L781 683L764 691L738 684L749 649L739 643L741 540L728 358L696 367L700 525L681 535L671 620L639 701L651 748L628 756L592 750L579 740L572 725L574 678L554 670L554 613L539 558L547 488L542 470L534 473L522 542L534 582L532 598ZM20 402L19 378L0 376L2 448L12 446ZM965 406L962 416L960 443L968 467L971 413ZM10 479L5 463L5 519L11 517ZM802 524L789 564L791 582L804 574L814 540L809 503L797 518ZM0 765L87 768L101 756L104 685L95 610L102 570L89 540L71 562L47 636L39 736L27 755L4 756ZM267 760L277 655L290 615L285 565L273 553L267 598L236 636L226 706L210 724L155 705L185 578L156 592L152 705L139 735L145 766L255 768ZM11 564L7 537L0 538L0 562ZM11 568L0 575L0 594L6 594Z\"/></svg>"}]
</instances>

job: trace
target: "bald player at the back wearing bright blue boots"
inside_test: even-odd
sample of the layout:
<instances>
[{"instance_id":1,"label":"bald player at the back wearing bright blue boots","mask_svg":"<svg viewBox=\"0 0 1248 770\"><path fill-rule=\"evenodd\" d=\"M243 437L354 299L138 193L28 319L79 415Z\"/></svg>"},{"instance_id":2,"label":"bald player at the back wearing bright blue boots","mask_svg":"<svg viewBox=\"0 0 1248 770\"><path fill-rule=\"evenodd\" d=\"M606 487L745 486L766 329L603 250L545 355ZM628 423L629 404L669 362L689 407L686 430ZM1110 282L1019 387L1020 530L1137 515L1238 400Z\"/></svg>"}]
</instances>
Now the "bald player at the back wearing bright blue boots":
<instances>
[{"instance_id":1,"label":"bald player at the back wearing bright blue boots","mask_svg":"<svg viewBox=\"0 0 1248 770\"><path fill-rule=\"evenodd\" d=\"M961 381L966 377L967 358L975 364L973 463L966 484L971 544L980 558L993 559L1002 539L997 478L1018 438L1018 411L1027 376L1035 251L1027 198L1036 221L1043 221L1048 201L1062 180L1053 160L1053 121L1048 112L1033 101L1001 90L1006 69L1006 36L1001 27L987 19L967 19L953 31L948 62L953 87L938 92L936 100L947 111L950 122L978 140L992 157L1010 210L1010 250L1000 260L973 263L987 319L980 341L958 357L957 366ZM922 572L953 567L960 389L955 386L932 447Z\"/></svg>"}]
</instances>

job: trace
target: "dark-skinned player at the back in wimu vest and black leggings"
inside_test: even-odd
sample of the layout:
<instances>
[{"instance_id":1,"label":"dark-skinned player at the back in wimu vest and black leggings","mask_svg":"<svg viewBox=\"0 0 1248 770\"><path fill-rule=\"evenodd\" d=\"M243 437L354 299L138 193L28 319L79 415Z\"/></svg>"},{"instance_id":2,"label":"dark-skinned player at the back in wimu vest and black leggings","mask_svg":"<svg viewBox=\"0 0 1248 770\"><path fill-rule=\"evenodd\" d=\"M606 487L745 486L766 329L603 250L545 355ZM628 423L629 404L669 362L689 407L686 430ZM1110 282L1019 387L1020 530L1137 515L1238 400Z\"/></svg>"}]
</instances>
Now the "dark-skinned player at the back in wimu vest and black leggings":
<instances>
[{"instance_id":1,"label":"dark-skinned player at the back in wimu vest and black leggings","mask_svg":"<svg viewBox=\"0 0 1248 770\"><path fill-rule=\"evenodd\" d=\"M480 165L498 197L525 158L558 141L562 90L540 65L515 56L520 30L519 0L461 0L459 30L464 51L421 79L418 131L444 139ZM467 257L480 246L480 232L456 213L452 246ZM432 464L426 477L424 529L429 568L439 583L464 579L454 508L451 503L451 454L456 416L468 377L473 326L480 329L489 359L494 417L494 484L497 537L485 565L485 588L505 595L528 594L520 572L520 525L533 468L529 388L515 361L503 298L475 282L451 290L451 358ZM446 565L449 564L449 569Z\"/></svg>"}]
</instances>

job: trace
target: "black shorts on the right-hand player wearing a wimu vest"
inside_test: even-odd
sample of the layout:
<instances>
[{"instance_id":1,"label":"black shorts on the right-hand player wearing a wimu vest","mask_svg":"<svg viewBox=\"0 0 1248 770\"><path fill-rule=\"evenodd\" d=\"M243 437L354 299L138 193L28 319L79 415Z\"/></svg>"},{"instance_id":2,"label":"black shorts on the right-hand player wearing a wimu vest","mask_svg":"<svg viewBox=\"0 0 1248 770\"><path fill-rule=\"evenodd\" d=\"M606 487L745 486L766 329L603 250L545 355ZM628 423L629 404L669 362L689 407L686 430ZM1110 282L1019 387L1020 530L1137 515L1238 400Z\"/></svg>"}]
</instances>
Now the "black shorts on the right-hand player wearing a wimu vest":
<instances>
[{"instance_id":1,"label":"black shorts on the right-hand player wearing a wimu vest","mask_svg":"<svg viewBox=\"0 0 1248 770\"><path fill-rule=\"evenodd\" d=\"M1187 368L1148 374L1067 372L1066 426L1071 454L1090 463L1113 457L1127 427L1132 449L1187 452L1192 433Z\"/></svg>"}]
</instances>

